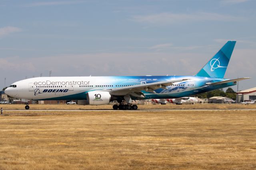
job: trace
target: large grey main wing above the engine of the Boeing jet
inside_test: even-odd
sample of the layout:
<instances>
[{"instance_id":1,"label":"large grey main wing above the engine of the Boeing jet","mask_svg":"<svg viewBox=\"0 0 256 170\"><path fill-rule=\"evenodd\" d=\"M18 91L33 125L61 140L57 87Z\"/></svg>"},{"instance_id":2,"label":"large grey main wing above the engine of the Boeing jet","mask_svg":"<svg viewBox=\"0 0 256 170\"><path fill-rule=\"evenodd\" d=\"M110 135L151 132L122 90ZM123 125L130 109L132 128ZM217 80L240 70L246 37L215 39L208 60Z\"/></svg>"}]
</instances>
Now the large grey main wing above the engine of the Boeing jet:
<instances>
[{"instance_id":1,"label":"large grey main wing above the engine of the Boeing jet","mask_svg":"<svg viewBox=\"0 0 256 170\"><path fill-rule=\"evenodd\" d=\"M122 92L123 93L129 93L129 92L140 92L142 90L156 93L154 90L156 89L166 89L166 86L172 85L172 83L180 82L180 81L186 81L188 79L179 79L179 80L170 80L170 81L158 81L155 83L147 83L147 84L141 84L141 85L132 85L132 86L126 86L126 87L119 87L119 88L114 88L111 90L111 94L113 95L120 95Z\"/></svg>"}]
</instances>

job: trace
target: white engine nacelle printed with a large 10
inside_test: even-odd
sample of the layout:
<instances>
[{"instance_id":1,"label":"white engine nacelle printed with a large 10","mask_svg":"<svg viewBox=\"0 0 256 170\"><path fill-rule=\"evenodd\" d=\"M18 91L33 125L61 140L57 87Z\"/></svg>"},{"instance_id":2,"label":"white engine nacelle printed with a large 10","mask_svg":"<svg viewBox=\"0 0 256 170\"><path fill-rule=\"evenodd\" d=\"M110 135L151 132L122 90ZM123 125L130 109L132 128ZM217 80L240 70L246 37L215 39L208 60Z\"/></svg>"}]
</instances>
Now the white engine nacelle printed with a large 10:
<instances>
[{"instance_id":1,"label":"white engine nacelle printed with a large 10","mask_svg":"<svg viewBox=\"0 0 256 170\"><path fill-rule=\"evenodd\" d=\"M89 105L107 105L111 101L107 91L89 91L86 95Z\"/></svg>"}]
</instances>

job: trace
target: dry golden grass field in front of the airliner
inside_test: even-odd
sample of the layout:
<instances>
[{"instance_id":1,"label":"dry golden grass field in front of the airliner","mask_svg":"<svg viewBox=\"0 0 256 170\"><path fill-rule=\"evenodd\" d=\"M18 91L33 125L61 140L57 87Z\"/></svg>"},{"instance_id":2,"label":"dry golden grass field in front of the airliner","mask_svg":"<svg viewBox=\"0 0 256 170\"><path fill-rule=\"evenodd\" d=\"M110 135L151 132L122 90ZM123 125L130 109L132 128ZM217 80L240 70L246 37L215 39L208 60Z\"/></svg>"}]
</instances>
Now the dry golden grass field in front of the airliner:
<instances>
[{"instance_id":1,"label":"dry golden grass field in front of the airliner","mask_svg":"<svg viewBox=\"0 0 256 170\"><path fill-rule=\"evenodd\" d=\"M139 108L203 106L225 109L232 105L139 105ZM4 107L4 115L0 116L0 169L256 169L255 110L105 113L35 110L28 114L26 110L6 110L14 109L14 105L0 107ZM24 105L15 107L24 109ZM102 109L67 105L32 107ZM111 109L111 105L103 109Z\"/></svg>"}]
</instances>

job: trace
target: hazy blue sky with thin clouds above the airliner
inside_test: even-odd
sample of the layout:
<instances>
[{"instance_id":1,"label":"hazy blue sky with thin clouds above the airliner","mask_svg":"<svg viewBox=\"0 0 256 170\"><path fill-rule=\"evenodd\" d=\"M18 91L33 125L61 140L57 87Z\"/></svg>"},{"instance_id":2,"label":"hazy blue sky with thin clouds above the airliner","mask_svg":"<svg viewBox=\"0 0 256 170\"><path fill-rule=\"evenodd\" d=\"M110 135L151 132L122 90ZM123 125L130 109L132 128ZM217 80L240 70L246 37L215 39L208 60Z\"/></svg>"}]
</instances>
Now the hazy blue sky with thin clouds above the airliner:
<instances>
[{"instance_id":1,"label":"hazy blue sky with thin clouds above the airliner","mask_svg":"<svg viewBox=\"0 0 256 170\"><path fill-rule=\"evenodd\" d=\"M0 0L0 89L49 76L195 75L236 40L225 78L256 87L255 0ZM232 87L235 91L237 86Z\"/></svg>"}]
</instances>

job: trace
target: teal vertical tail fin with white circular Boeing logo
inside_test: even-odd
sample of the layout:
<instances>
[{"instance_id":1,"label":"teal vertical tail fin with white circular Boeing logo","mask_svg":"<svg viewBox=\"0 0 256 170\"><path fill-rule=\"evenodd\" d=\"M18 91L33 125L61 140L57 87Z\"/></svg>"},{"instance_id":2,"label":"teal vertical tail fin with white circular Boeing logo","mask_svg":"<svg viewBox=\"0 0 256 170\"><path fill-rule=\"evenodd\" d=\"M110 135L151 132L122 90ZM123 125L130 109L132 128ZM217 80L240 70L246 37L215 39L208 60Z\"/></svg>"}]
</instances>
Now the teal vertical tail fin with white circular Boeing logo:
<instances>
[{"instance_id":1,"label":"teal vertical tail fin with white circular Boeing logo","mask_svg":"<svg viewBox=\"0 0 256 170\"><path fill-rule=\"evenodd\" d=\"M201 77L223 78L236 41L228 41L196 74Z\"/></svg>"}]
</instances>

